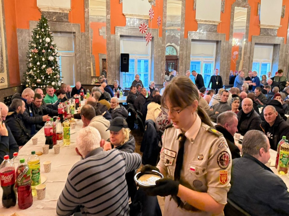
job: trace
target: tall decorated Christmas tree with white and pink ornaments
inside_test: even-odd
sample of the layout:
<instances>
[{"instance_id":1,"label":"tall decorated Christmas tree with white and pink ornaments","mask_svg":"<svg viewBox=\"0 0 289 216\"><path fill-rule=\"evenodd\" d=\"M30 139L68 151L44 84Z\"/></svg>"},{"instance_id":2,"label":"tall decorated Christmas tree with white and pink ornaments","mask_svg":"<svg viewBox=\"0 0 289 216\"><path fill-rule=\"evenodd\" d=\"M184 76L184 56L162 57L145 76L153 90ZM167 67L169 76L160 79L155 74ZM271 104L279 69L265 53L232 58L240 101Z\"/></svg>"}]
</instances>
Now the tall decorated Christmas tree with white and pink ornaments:
<instances>
[{"instance_id":1,"label":"tall decorated Christmas tree with white and pink ornaments","mask_svg":"<svg viewBox=\"0 0 289 216\"><path fill-rule=\"evenodd\" d=\"M61 85L60 70L57 59L57 47L53 43L48 20L41 15L37 27L34 28L27 51L27 72L24 74L26 87L46 89L52 85L59 89Z\"/></svg>"}]
</instances>

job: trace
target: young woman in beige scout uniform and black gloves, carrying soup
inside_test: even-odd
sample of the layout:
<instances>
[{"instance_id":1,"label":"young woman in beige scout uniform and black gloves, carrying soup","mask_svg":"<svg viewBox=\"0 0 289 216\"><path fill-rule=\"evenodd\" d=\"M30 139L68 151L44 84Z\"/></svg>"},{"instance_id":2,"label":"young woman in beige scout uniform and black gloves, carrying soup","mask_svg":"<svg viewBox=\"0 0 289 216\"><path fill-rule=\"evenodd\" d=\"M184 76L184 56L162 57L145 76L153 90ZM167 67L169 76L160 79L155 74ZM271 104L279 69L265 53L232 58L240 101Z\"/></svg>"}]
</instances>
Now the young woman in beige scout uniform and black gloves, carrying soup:
<instances>
[{"instance_id":1,"label":"young woman in beige scout uniform and black gloves, carrying soup","mask_svg":"<svg viewBox=\"0 0 289 216\"><path fill-rule=\"evenodd\" d=\"M178 95L178 97L176 97ZM162 138L156 169L164 178L146 188L148 195L166 196L166 216L224 215L230 188L231 153L198 106L198 90L186 76L177 77L164 90L162 110L172 124Z\"/></svg>"}]
</instances>

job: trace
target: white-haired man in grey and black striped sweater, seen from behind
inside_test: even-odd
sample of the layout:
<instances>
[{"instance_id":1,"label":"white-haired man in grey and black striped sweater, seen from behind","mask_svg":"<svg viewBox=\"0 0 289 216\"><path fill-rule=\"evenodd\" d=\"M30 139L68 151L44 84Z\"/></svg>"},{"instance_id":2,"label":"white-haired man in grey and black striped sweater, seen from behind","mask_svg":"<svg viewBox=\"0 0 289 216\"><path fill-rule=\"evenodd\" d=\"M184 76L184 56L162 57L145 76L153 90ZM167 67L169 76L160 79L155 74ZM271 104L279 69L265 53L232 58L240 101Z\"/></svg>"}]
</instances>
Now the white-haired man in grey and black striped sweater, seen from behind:
<instances>
[{"instance_id":1,"label":"white-haired man in grey and black striped sweater, seen from behind","mask_svg":"<svg viewBox=\"0 0 289 216\"><path fill-rule=\"evenodd\" d=\"M84 215L129 215L125 173L141 165L137 153L103 151L94 127L82 128L76 152L84 159L73 165L57 201L57 215L72 215L80 207Z\"/></svg>"}]
</instances>

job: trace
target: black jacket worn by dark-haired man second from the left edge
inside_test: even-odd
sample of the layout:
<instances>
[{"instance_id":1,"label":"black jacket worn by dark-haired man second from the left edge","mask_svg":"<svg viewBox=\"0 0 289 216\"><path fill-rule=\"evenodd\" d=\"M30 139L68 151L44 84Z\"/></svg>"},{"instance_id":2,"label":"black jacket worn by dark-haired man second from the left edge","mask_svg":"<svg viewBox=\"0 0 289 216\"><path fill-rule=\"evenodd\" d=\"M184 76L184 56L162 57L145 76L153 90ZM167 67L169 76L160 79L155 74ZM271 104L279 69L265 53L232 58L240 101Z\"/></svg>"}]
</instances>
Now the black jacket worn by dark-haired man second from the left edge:
<instances>
[{"instance_id":1,"label":"black jacket worn by dark-haired man second from the left edge","mask_svg":"<svg viewBox=\"0 0 289 216\"><path fill-rule=\"evenodd\" d=\"M5 122L10 128L18 146L24 146L30 140L31 136L24 127L21 115L18 115L11 107L8 109Z\"/></svg>"}]
</instances>

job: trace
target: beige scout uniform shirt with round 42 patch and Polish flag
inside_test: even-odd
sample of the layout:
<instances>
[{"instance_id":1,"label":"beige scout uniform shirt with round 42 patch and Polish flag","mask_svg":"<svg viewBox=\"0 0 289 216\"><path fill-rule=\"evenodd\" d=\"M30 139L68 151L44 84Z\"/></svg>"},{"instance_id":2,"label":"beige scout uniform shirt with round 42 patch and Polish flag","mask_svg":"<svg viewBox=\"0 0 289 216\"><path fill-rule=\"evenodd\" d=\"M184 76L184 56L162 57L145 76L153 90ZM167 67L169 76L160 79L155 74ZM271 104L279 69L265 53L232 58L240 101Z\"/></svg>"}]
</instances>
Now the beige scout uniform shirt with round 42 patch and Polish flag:
<instances>
[{"instance_id":1,"label":"beige scout uniform shirt with round 42 patch and Polish flag","mask_svg":"<svg viewBox=\"0 0 289 216\"><path fill-rule=\"evenodd\" d=\"M169 127L164 131L162 138L163 147L158 166L163 168L166 177L171 179L174 179L180 134L180 129ZM207 192L216 202L226 204L227 192L230 189L232 157L224 136L202 123L198 115L195 123L184 135L186 140L180 184L194 191ZM177 207L171 196L165 198L164 209L166 216L214 215L201 210L188 211Z\"/></svg>"}]
</instances>

